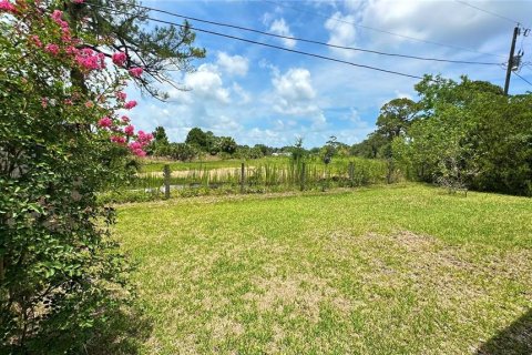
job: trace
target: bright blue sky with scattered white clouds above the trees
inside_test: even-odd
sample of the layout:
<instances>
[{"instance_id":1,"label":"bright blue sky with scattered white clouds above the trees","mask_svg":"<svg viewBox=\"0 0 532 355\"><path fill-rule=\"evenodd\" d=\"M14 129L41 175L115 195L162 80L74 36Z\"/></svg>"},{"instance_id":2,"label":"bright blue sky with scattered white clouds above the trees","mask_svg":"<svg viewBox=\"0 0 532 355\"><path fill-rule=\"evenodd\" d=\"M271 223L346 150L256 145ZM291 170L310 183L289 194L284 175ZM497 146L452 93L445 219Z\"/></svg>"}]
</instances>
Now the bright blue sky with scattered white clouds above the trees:
<instances>
[{"instance_id":1,"label":"bright blue sky with scattered white clouds above the trees","mask_svg":"<svg viewBox=\"0 0 532 355\"><path fill-rule=\"evenodd\" d=\"M266 32L409 55L503 63L508 60L514 23L459 1L356 0L356 1L143 1L144 6L205 20L248 27ZM532 27L532 1L470 1L470 4ZM152 13L154 18L182 19ZM501 65L468 65L382 57L282 40L267 36L191 21L193 27L334 57L413 75L441 73L458 79L468 74L503 85ZM381 31L399 33L391 36ZM428 42L444 43L454 48ZM163 125L172 141L183 141L200 126L217 135L231 135L239 144L290 145L297 136L305 146L320 146L330 135L352 144L375 129L380 106L407 97L416 99L417 79L328 62L300 54L197 33L196 45L207 55L194 62L193 73L174 79L188 91L163 87L166 103L144 97L131 112L139 129ZM532 34L518 40L523 61L532 62ZM532 67L520 75L532 81ZM510 93L532 87L512 77Z\"/></svg>"}]
</instances>

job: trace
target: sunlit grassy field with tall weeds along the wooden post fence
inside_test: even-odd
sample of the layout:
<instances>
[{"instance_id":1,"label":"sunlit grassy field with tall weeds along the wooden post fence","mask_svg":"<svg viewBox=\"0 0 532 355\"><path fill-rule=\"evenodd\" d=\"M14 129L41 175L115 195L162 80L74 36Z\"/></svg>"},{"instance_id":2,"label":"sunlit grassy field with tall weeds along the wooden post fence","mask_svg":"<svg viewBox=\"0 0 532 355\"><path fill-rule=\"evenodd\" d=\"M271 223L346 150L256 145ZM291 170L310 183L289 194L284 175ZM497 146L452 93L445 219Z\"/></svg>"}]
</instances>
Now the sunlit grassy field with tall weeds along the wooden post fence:
<instances>
[{"instance_id":1,"label":"sunlit grassy field with tall weeds along the wooden post fence","mask_svg":"<svg viewBox=\"0 0 532 355\"><path fill-rule=\"evenodd\" d=\"M383 160L338 158L330 164L320 159L293 161L286 156L237 161L172 162L141 160L141 171L122 190L104 192L105 202L140 202L164 197L164 164L171 169L167 184L173 196L264 193L294 190L328 190L365 186L402 178L399 171L389 175ZM244 172L241 166L244 164Z\"/></svg>"}]
</instances>

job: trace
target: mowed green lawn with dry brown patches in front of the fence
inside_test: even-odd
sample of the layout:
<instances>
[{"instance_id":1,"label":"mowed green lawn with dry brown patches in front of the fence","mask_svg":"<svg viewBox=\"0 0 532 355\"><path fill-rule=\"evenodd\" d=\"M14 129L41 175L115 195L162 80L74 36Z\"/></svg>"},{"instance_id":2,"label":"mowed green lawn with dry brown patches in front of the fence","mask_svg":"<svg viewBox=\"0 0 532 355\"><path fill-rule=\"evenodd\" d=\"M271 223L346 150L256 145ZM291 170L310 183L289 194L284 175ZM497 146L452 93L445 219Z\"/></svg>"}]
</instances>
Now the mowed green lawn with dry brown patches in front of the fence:
<instances>
[{"instance_id":1,"label":"mowed green lawn with dry brown patches in front of the fence","mask_svg":"<svg viewBox=\"0 0 532 355\"><path fill-rule=\"evenodd\" d=\"M532 201L422 185L119 206L145 354L530 354Z\"/></svg>"}]
</instances>

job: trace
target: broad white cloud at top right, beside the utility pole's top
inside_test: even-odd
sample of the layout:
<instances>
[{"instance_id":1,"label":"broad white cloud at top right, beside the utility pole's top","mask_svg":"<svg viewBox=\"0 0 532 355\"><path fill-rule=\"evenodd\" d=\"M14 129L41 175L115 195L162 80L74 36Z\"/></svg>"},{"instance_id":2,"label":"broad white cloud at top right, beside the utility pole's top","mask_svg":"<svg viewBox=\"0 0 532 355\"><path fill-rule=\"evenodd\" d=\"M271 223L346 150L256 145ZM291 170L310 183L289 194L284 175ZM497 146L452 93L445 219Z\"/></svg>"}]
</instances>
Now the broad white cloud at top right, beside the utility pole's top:
<instances>
[{"instance_id":1,"label":"broad white cloud at top right, beside the utility pole's top","mask_svg":"<svg viewBox=\"0 0 532 355\"><path fill-rule=\"evenodd\" d=\"M474 2L479 8L519 20L520 13L530 12L530 1ZM511 28L509 22L454 1L398 1L371 0L361 9L360 24L413 37L431 42L482 50L485 42ZM405 42L417 43L406 38L365 31L371 42L379 47L400 48ZM508 37L510 37L508 31ZM504 51L508 44L504 43ZM437 49L438 47L431 45ZM427 50L427 47L424 47ZM441 48L440 48L441 49ZM452 50L452 53L456 53Z\"/></svg>"}]
</instances>

